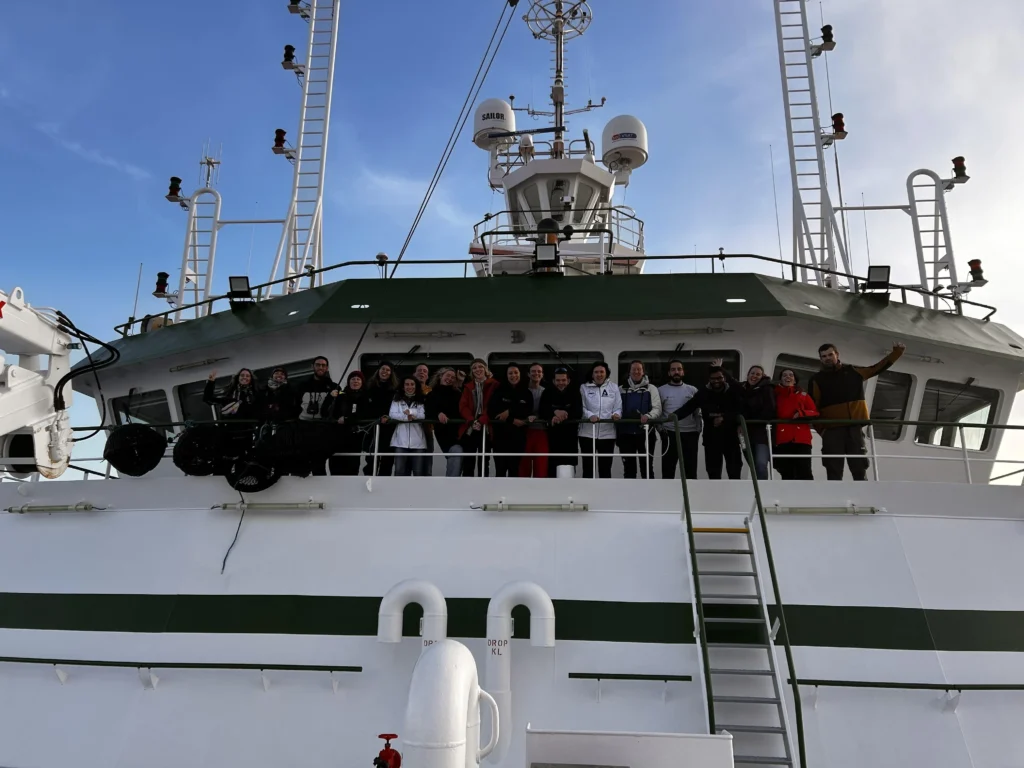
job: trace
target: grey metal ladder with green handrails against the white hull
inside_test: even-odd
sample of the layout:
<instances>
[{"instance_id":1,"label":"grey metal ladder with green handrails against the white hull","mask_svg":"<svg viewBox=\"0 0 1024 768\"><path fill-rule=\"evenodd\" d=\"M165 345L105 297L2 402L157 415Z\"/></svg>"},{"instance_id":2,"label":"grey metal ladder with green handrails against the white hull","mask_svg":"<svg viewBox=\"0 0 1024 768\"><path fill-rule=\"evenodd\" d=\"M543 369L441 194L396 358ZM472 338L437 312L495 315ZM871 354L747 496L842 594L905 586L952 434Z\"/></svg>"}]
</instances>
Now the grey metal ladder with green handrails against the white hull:
<instances>
[{"instance_id":1,"label":"grey metal ladder with green handrails against the white hull","mask_svg":"<svg viewBox=\"0 0 1024 768\"><path fill-rule=\"evenodd\" d=\"M732 735L736 766L796 766L751 520L693 535L715 729Z\"/></svg>"}]
</instances>

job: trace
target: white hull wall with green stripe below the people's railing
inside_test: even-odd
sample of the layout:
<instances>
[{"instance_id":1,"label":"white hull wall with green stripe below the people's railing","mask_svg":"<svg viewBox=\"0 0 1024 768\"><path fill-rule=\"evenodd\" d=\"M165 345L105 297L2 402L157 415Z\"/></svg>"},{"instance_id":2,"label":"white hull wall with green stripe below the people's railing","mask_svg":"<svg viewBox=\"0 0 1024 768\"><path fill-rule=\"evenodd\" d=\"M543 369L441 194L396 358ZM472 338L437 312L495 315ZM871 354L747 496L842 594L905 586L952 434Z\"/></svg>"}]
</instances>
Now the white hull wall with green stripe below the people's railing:
<instances>
[{"instance_id":1,"label":"white hull wall with green stripe below the people's railing","mask_svg":"<svg viewBox=\"0 0 1024 768\"><path fill-rule=\"evenodd\" d=\"M375 634L380 598L406 579L443 593L449 634L476 655L484 689L487 600L519 580L553 598L555 647L517 639L508 648L512 717L503 727L511 744L502 764L525 763L527 724L707 732L678 482L375 478L369 485L283 479L254 501L323 501L326 509L247 510L221 573L240 517L211 509L238 501L222 478L5 483L5 509L81 501L106 509L0 517L0 764L358 765L385 731L399 733L401 749L421 640L386 644ZM765 482L762 489L766 505L865 511L769 516L799 678L1024 683L1020 488ZM741 525L751 492L748 481L691 483L694 524ZM471 509L503 498L571 498L590 511ZM521 620L517 636L528 625ZM752 652L717 658L741 665ZM778 656L788 678L781 649ZM66 663L54 666L58 659ZM214 667L187 668L197 664ZM231 665L254 669L217 668ZM266 669L289 665L361 671ZM570 677L580 674L692 680ZM809 765L994 768L1024 756L1015 726L1024 691L950 699L941 690L804 685L801 693ZM785 696L795 722L788 687ZM716 707L720 721L726 708Z\"/></svg>"}]
</instances>

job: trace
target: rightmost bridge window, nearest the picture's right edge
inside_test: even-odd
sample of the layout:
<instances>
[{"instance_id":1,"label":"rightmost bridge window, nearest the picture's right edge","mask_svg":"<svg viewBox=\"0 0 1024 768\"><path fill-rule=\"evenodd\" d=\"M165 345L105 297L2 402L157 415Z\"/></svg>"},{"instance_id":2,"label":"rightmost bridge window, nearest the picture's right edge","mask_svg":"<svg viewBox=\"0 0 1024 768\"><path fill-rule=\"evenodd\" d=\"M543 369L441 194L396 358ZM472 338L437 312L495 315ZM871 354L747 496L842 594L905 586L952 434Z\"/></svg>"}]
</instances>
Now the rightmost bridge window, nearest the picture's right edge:
<instances>
[{"instance_id":1,"label":"rightmost bridge window, nearest the picture's right edge","mask_svg":"<svg viewBox=\"0 0 1024 768\"><path fill-rule=\"evenodd\" d=\"M959 429L941 424L963 424L968 450L984 451L988 447L991 430L974 425L993 423L998 401L999 393L995 389L929 379L918 419L940 424L922 424L918 427L915 440L925 445L961 447Z\"/></svg>"}]
</instances>

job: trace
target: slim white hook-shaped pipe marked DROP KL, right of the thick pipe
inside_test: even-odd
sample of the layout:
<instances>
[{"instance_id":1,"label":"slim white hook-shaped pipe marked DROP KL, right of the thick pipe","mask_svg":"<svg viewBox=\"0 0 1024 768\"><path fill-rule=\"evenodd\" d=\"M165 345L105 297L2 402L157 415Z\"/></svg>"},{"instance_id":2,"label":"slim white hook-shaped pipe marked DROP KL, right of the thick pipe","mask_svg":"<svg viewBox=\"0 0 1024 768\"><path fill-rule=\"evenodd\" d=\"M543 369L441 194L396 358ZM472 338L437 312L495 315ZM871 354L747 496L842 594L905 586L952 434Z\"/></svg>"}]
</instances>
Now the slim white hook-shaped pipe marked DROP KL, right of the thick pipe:
<instances>
[{"instance_id":1,"label":"slim white hook-shaped pipe marked DROP KL, right of the thick pipe","mask_svg":"<svg viewBox=\"0 0 1024 768\"><path fill-rule=\"evenodd\" d=\"M529 642L545 648L555 645L555 606L548 593L532 582L511 582L487 604L487 690L498 702L502 732L490 762L500 763L512 740L512 608L529 608Z\"/></svg>"}]
</instances>

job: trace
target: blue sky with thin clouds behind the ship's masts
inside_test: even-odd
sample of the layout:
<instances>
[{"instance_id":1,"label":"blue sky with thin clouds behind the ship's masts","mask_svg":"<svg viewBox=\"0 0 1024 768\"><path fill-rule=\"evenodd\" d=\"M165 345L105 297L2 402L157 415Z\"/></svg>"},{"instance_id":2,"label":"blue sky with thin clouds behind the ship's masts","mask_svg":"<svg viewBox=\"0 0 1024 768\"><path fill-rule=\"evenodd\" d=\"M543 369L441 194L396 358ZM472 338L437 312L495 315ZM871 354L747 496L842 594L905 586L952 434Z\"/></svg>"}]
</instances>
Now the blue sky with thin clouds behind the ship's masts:
<instances>
[{"instance_id":1,"label":"blue sky with thin clouds behind the ship's masts","mask_svg":"<svg viewBox=\"0 0 1024 768\"><path fill-rule=\"evenodd\" d=\"M501 4L343 0L325 200L328 263L397 254ZM0 285L20 285L29 301L58 306L112 337L132 310L142 262L138 314L165 309L150 293L158 270L176 285L184 229L183 212L163 198L167 179L181 176L193 188L208 138L223 146L223 215L284 217L291 166L269 147L275 128L296 129L299 89L280 62L286 43L302 52L305 34L285 5L54 0L5 7ZM566 51L568 98L571 106L607 96L608 104L569 127L574 136L584 127L599 136L624 113L646 123L650 162L634 174L626 202L646 221L648 252L724 247L777 255L773 144L788 256L771 3L591 5L591 31ZM1024 108L1014 94L1024 77L1024 3L823 0L810 12L812 23L823 12L840 43L829 68L835 109L851 131L841 146L847 202L863 193L868 203L901 203L910 170L946 172L949 158L967 156L974 180L949 201L957 261L985 260L993 284L977 298L1021 330L1024 308L1012 279L1020 273L1014 222L1024 151L1014 126ZM549 60L549 46L517 18L481 97L515 93L517 103L539 104ZM823 70L818 77L827 114ZM472 223L501 202L486 185L485 161L464 135L407 260L465 256ZM874 261L909 280L915 264L902 216L868 224ZM863 273L859 216L851 231L854 268ZM276 238L270 227L225 229L218 285L249 264L254 279L265 280Z\"/></svg>"}]
</instances>

